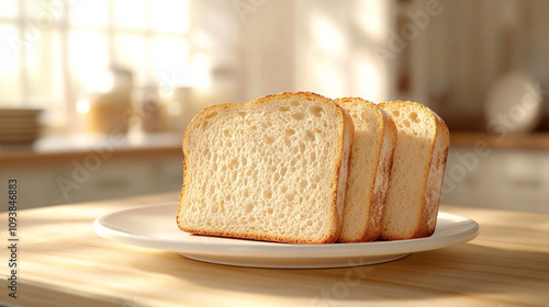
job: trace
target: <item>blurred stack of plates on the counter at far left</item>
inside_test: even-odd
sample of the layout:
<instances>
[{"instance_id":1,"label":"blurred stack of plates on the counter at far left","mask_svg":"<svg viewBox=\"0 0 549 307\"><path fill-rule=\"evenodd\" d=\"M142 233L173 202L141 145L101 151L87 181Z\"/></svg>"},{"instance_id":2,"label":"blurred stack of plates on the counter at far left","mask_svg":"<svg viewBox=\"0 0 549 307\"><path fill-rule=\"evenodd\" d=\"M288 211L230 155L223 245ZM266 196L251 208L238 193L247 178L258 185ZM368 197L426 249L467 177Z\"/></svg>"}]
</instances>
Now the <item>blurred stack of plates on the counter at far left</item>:
<instances>
[{"instance_id":1,"label":"blurred stack of plates on the counter at far left","mask_svg":"<svg viewBox=\"0 0 549 307\"><path fill-rule=\"evenodd\" d=\"M0 144L33 143L41 125L38 109L0 109Z\"/></svg>"}]
</instances>

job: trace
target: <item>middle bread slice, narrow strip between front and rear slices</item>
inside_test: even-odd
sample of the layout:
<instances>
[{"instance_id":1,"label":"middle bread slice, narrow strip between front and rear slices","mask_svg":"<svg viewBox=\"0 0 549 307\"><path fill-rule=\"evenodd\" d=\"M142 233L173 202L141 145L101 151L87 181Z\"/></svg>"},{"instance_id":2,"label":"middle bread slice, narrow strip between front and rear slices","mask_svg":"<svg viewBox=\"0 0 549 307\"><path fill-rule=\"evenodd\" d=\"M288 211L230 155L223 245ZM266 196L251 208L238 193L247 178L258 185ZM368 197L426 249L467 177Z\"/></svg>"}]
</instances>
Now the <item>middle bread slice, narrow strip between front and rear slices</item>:
<instances>
[{"instance_id":1,"label":"middle bread slice, narrow strip between front and rear slices","mask_svg":"<svg viewBox=\"0 0 549 307\"><path fill-rule=\"evenodd\" d=\"M373 102L360 98L336 99L336 102L349 113L355 125L339 242L373 241L381 232L396 126Z\"/></svg>"}]
</instances>

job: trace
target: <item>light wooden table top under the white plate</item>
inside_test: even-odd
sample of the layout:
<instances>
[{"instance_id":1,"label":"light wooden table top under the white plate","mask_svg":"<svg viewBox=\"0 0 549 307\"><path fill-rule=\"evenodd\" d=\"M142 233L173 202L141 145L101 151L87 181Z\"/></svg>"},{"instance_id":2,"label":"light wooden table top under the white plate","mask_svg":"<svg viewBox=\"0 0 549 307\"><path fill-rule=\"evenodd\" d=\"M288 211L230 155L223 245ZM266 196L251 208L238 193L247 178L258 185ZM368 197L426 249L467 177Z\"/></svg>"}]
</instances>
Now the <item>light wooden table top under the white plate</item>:
<instances>
[{"instance_id":1,"label":"light wooden table top under the white plate","mask_svg":"<svg viewBox=\"0 0 549 307\"><path fill-rule=\"evenodd\" d=\"M18 298L8 306L548 306L549 215L442 206L480 236L402 260L328 270L247 269L123 246L96 235L105 213L178 193L18 212ZM2 231L8 215L0 215ZM7 232L4 232L7 234ZM4 237L8 245L8 237Z\"/></svg>"}]
</instances>

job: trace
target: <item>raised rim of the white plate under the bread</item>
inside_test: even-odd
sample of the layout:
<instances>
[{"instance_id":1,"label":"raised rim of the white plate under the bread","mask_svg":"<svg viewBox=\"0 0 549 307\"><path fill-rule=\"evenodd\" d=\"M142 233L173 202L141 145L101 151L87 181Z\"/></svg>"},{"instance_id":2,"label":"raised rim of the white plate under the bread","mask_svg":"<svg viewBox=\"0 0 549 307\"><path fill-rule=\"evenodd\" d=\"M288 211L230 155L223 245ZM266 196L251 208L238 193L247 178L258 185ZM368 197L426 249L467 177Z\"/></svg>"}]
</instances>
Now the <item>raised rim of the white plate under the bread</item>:
<instances>
[{"instance_id":1,"label":"raised rim of the white plate under the bread","mask_svg":"<svg viewBox=\"0 0 549 307\"><path fill-rule=\"evenodd\" d=\"M210 254L215 252L219 255L224 257L242 257L242 258L257 258L257 257L288 257L288 258L322 258L322 252L328 252L325 254L326 258L333 257L377 257L385 254L396 254L396 253L413 253L421 251L435 250L440 248L447 248L456 246L459 243L468 242L474 239L480 234L480 226L473 219L450 214L446 212L439 212L438 218L458 219L459 223L467 224L467 229L461 232L453 234L450 236L445 236L444 240L436 232L432 237L408 239L408 240L395 240L395 241L372 241L372 242L359 242L359 243L328 243L328 245L290 245L290 243L278 243L278 242L265 242L265 241L254 241L254 240L243 240L237 238L223 238L228 240L242 240L242 243L212 243L208 241L209 237L200 237L200 239L193 241L173 241L173 240L158 240L158 238L147 237L139 234L131 234L123 230L117 230L110 228L104 225L104 220L113 215L124 215L127 212L138 212L152 208L159 208L164 206L173 206L177 208L177 202L149 204L132 208L125 208L121 211L111 212L104 214L93 221L93 230L101 237L126 243L132 246L138 246L144 248L153 248L165 251L173 251L179 253L193 253L193 254ZM175 219L173 215L173 219ZM173 223L176 225L176 223ZM459 225L458 225L459 226ZM461 226L462 227L462 226ZM199 236L197 236L199 237ZM176 245L176 246L175 246ZM321 253L321 255L318 254ZM291 255L290 255L291 254Z\"/></svg>"}]
</instances>

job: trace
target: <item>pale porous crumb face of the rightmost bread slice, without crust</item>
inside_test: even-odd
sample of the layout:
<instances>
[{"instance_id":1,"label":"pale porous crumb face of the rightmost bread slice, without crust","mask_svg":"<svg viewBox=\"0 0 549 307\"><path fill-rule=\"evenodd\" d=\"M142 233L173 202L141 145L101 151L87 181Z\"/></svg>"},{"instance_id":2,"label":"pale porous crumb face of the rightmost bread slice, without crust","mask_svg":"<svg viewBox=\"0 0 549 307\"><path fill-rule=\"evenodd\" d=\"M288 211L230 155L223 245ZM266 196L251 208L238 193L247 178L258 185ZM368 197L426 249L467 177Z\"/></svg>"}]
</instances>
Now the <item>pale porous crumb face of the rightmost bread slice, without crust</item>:
<instances>
[{"instance_id":1,"label":"pale porous crumb face of the rightmost bread slice, without crust","mask_svg":"<svg viewBox=\"0 0 549 307\"><path fill-rule=\"evenodd\" d=\"M380 106L397 128L382 238L413 238L422 224L427 223L423 220L423 211L426 209L424 196L437 133L435 115L426 106L412 102L395 101Z\"/></svg>"}]
</instances>

